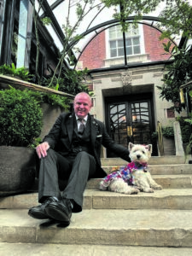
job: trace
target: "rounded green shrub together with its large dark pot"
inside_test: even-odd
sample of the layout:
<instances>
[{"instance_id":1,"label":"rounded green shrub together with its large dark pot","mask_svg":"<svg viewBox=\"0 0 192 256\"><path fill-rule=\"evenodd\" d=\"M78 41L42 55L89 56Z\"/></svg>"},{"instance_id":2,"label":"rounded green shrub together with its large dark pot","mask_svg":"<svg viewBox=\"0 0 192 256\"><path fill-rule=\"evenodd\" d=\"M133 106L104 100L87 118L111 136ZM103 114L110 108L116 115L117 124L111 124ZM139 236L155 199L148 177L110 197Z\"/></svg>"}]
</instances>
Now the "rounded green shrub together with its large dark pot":
<instances>
[{"instance_id":1,"label":"rounded green shrub together with its large dark pot","mask_svg":"<svg viewBox=\"0 0 192 256\"><path fill-rule=\"evenodd\" d=\"M27 148L42 129L39 95L32 90L0 90L0 195L30 189L35 151Z\"/></svg>"}]
</instances>

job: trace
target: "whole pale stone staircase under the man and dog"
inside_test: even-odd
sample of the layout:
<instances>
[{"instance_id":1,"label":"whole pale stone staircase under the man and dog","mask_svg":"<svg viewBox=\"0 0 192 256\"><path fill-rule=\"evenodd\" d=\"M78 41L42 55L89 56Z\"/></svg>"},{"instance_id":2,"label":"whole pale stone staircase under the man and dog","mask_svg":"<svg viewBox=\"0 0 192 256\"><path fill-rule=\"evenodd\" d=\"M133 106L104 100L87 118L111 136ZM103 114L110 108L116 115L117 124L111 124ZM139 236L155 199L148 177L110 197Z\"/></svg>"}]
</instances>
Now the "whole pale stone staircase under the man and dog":
<instances>
[{"instance_id":1,"label":"whole pale stone staircase under the man and dog","mask_svg":"<svg viewBox=\"0 0 192 256\"><path fill-rule=\"evenodd\" d=\"M122 195L98 190L91 179L84 211L67 227L27 215L37 191L0 198L0 255L191 255L192 165L183 156L152 157L149 167L163 190ZM120 159L102 159L108 172Z\"/></svg>"}]
</instances>

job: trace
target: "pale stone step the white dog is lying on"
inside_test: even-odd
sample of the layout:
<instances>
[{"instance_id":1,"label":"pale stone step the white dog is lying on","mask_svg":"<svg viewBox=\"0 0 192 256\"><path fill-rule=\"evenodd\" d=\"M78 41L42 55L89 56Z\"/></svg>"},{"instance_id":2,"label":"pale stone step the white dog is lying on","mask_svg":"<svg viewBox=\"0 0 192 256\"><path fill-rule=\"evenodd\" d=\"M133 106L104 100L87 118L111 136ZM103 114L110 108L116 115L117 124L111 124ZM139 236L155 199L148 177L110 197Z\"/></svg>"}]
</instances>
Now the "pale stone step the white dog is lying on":
<instances>
[{"instance_id":1,"label":"pale stone step the white dog is lying on","mask_svg":"<svg viewBox=\"0 0 192 256\"><path fill-rule=\"evenodd\" d=\"M86 189L85 209L175 209L192 210L192 189L162 189L154 193L124 195ZM0 199L1 209L28 209L38 205L38 193L12 195Z\"/></svg>"}]
</instances>

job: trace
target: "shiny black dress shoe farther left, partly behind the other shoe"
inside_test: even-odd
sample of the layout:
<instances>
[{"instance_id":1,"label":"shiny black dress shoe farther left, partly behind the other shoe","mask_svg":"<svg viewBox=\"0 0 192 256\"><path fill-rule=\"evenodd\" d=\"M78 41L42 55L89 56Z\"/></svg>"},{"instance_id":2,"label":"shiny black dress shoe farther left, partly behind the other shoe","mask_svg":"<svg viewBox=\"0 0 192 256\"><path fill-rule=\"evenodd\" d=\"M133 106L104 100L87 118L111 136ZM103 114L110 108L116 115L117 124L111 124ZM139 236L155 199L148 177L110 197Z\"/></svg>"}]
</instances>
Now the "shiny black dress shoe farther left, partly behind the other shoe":
<instances>
[{"instance_id":1,"label":"shiny black dress shoe farther left, partly behind the other shoe","mask_svg":"<svg viewBox=\"0 0 192 256\"><path fill-rule=\"evenodd\" d=\"M49 205L50 202L56 202L58 199L55 197L48 197L43 204L39 205L38 207L32 207L29 209L29 216L32 218L38 218L38 219L44 219L44 218L49 218L47 213L45 212L45 207Z\"/></svg>"}]
</instances>

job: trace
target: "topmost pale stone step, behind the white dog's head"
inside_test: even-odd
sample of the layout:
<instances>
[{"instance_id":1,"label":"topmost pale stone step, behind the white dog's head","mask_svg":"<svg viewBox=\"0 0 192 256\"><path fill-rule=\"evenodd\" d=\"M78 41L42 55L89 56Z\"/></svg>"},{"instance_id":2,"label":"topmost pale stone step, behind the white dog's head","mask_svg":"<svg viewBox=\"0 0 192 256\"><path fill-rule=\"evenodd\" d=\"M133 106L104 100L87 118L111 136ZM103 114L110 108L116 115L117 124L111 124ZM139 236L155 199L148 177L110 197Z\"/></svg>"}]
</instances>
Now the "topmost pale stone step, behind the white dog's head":
<instances>
[{"instance_id":1,"label":"topmost pale stone step, behind the white dog's head","mask_svg":"<svg viewBox=\"0 0 192 256\"><path fill-rule=\"evenodd\" d=\"M125 160L120 158L102 158L102 166L124 166L127 164ZM165 155L165 156L152 156L148 162L149 165L175 165L184 164L186 162L185 156L180 155Z\"/></svg>"}]
</instances>

